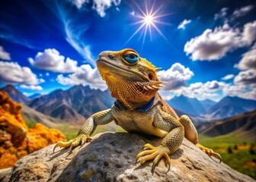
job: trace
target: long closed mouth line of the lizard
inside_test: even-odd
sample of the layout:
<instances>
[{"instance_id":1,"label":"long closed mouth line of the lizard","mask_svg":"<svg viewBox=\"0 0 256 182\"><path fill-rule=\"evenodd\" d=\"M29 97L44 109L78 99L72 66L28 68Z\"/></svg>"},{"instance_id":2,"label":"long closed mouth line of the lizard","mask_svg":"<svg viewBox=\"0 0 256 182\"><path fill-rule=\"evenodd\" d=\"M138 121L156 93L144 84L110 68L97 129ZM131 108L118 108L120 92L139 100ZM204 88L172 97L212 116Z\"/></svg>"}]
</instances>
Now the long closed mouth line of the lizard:
<instances>
[{"instance_id":1,"label":"long closed mouth line of the lizard","mask_svg":"<svg viewBox=\"0 0 256 182\"><path fill-rule=\"evenodd\" d=\"M133 71L133 70L130 70L126 67L123 67L122 65L118 65L118 64L114 64L113 62L111 61L108 61L107 59L104 59L104 58L100 58L96 61L97 63L101 63L101 64L105 64L107 65L108 67L113 67L114 69L117 69L117 70L122 70L122 71L126 71L128 73L133 73L133 74L136 74L138 75L139 77L141 77L143 80L146 80L146 81L150 81L148 77L146 77L144 74L142 73L139 73L138 71ZM100 71L100 74L101 74L101 71Z\"/></svg>"}]
</instances>

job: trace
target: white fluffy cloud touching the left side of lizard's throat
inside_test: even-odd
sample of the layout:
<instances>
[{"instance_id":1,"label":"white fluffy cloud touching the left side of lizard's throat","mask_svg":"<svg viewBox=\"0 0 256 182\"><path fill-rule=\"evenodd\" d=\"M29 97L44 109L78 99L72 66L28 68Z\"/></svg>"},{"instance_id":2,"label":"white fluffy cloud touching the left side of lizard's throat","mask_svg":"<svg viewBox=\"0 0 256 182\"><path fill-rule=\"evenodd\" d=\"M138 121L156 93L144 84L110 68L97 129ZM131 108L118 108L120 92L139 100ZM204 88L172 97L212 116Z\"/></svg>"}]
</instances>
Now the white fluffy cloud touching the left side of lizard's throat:
<instances>
[{"instance_id":1,"label":"white fluffy cloud touching the left side of lizard's throat","mask_svg":"<svg viewBox=\"0 0 256 182\"><path fill-rule=\"evenodd\" d=\"M101 79L101 76L98 74L97 68L92 68L88 64L83 64L81 67L78 67L77 71L74 74L69 74L67 77L64 77L62 74L59 74L57 81L62 85L88 85L91 89L107 89L105 82Z\"/></svg>"}]
</instances>

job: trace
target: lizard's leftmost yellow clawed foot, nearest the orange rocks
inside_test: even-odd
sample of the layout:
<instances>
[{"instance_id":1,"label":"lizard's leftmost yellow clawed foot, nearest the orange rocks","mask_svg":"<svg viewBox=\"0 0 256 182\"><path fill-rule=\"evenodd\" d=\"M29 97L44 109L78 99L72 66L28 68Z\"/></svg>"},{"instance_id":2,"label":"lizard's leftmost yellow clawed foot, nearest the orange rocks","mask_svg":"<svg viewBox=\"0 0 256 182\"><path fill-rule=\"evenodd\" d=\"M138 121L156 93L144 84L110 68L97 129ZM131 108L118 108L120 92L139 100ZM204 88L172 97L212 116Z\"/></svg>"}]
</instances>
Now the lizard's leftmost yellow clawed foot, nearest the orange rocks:
<instances>
[{"instance_id":1,"label":"lizard's leftmost yellow clawed foot, nearest the orange rocks","mask_svg":"<svg viewBox=\"0 0 256 182\"><path fill-rule=\"evenodd\" d=\"M53 153L54 153L55 149L58 146L60 146L60 147L64 147L64 148L69 147L69 154L70 154L72 152L72 149L75 146L78 146L80 144L84 145L84 143L90 142L91 140L92 140L91 137L88 137L85 134L80 134L77 137L75 137L75 139L69 140L68 142L58 142L58 143L56 143L56 145L53 148Z\"/></svg>"}]
</instances>

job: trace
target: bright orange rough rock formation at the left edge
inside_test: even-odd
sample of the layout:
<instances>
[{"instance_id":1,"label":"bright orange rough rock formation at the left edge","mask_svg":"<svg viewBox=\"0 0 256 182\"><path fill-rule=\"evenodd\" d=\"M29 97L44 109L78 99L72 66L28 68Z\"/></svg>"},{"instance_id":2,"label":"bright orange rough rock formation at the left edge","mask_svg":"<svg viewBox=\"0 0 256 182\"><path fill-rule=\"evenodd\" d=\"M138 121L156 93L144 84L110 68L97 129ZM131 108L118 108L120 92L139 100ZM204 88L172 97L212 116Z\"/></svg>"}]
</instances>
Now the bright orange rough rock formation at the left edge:
<instances>
[{"instance_id":1,"label":"bright orange rough rock formation at the left edge","mask_svg":"<svg viewBox=\"0 0 256 182\"><path fill-rule=\"evenodd\" d=\"M0 92L0 168L11 167L24 155L66 140L59 130L43 124L28 128L21 107L7 93Z\"/></svg>"}]
</instances>

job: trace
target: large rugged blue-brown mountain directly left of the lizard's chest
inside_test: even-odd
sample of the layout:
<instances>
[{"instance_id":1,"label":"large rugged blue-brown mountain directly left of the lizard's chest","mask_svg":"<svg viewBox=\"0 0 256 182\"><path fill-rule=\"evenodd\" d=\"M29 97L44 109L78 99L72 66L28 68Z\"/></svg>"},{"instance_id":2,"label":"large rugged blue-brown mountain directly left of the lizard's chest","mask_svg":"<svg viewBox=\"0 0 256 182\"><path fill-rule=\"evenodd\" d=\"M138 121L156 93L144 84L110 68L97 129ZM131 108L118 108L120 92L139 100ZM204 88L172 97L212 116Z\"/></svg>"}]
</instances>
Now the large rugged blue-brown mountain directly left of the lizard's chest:
<instances>
[{"instance_id":1,"label":"large rugged blue-brown mountain directly left of the lizard's chest","mask_svg":"<svg viewBox=\"0 0 256 182\"><path fill-rule=\"evenodd\" d=\"M28 106L53 118L78 122L97 111L110 108L114 99L108 90L90 89L89 86L73 86L68 90L57 89L46 96L40 96Z\"/></svg>"}]
</instances>

